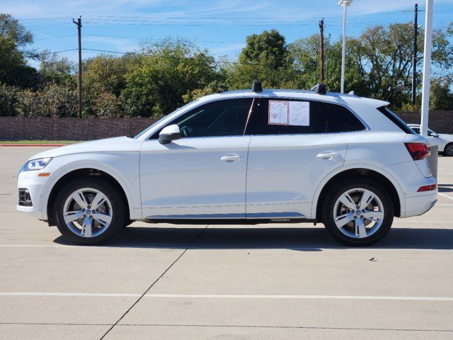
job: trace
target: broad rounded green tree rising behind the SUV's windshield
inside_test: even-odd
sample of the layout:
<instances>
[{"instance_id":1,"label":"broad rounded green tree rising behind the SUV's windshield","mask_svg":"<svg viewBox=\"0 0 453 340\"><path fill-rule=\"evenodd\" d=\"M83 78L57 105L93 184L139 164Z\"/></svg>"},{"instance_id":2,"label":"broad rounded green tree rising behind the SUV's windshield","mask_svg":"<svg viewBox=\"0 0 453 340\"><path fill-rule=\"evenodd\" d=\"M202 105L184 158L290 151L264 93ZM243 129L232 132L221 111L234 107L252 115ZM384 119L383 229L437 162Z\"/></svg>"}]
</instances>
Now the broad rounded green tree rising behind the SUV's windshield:
<instances>
[{"instance_id":1,"label":"broad rounded green tree rising behind the SUV's windshield","mask_svg":"<svg viewBox=\"0 0 453 340\"><path fill-rule=\"evenodd\" d=\"M166 115L184 103L183 96L214 80L214 58L187 40L164 40L142 46L125 75L121 93L125 113Z\"/></svg>"}]
</instances>

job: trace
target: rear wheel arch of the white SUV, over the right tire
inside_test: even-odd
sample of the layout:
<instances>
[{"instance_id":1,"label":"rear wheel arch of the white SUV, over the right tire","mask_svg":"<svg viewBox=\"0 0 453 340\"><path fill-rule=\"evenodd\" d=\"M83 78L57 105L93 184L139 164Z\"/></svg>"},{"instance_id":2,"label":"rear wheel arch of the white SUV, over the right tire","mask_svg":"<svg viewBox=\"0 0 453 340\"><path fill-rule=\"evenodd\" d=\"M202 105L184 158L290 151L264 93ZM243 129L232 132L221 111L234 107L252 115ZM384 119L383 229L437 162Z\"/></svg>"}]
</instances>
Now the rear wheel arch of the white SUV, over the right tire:
<instances>
[{"instance_id":1,"label":"rear wheel arch of the white SUV, over the right tire","mask_svg":"<svg viewBox=\"0 0 453 340\"><path fill-rule=\"evenodd\" d=\"M402 212L406 211L404 196L401 187L396 180L393 179L390 174L385 174L385 172L386 171L383 169L372 169L369 166L357 166L351 167L350 169L342 169L341 171L331 174L331 176L329 176L328 179L325 179L323 183L320 183L316 189L311 215L316 218L317 222L322 222L321 202L326 198L330 188L344 179L365 176L367 179L372 179L386 188L394 204L395 216L400 217Z\"/></svg>"}]
</instances>

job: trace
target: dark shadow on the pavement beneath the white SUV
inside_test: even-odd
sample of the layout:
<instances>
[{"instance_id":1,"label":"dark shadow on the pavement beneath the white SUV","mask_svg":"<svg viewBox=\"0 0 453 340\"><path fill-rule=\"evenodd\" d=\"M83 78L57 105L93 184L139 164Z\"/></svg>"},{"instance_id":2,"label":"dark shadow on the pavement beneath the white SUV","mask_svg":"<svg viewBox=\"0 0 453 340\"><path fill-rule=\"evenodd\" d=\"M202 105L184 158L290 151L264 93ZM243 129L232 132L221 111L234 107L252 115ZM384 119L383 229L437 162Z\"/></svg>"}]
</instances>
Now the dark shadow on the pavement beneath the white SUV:
<instances>
[{"instance_id":1,"label":"dark shadow on the pavement beneath the white SUV","mask_svg":"<svg viewBox=\"0 0 453 340\"><path fill-rule=\"evenodd\" d=\"M348 249L323 227L127 227L106 247L186 249ZM200 235L200 236L198 236ZM63 237L55 242L68 244ZM369 249L453 249L453 229L394 228Z\"/></svg>"}]
</instances>

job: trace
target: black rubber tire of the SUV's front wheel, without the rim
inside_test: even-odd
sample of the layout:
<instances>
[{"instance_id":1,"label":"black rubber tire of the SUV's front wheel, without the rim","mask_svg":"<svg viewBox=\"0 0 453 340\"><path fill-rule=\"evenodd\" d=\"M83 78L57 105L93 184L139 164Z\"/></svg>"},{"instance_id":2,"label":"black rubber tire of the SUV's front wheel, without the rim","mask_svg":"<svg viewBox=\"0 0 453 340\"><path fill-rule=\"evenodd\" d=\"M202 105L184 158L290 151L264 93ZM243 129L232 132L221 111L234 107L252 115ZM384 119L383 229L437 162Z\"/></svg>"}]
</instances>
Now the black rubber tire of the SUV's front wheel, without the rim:
<instances>
[{"instance_id":1,"label":"black rubber tire of the SUV's front wheel, without the rim","mask_svg":"<svg viewBox=\"0 0 453 340\"><path fill-rule=\"evenodd\" d=\"M64 222L64 203L67 198L71 196L74 191L81 188L94 188L98 191L101 191L108 200L110 200L112 207L112 220L110 225L105 229L104 232L93 237L83 237L75 234L69 229L66 222ZM111 239L124 225L126 221L125 216L125 202L123 202L120 193L118 193L115 186L108 183L103 179L93 177L84 177L81 179L75 179L67 183L64 188L58 193L54 205L54 214L55 221L57 222L57 227L59 232L62 233L63 237L68 239L70 242L75 244L84 244L84 245L95 245L103 244L104 242Z\"/></svg>"}]
</instances>

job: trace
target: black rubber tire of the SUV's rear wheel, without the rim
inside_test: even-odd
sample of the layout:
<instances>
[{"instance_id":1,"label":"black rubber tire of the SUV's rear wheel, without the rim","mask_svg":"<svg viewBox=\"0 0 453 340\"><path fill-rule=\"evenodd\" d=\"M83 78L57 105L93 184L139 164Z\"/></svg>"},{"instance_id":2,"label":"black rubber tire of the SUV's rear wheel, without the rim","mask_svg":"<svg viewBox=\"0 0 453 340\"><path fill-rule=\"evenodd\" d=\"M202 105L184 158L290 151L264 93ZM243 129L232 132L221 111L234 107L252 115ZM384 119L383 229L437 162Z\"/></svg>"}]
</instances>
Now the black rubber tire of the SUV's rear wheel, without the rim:
<instances>
[{"instance_id":1,"label":"black rubber tire of the SUV's rear wheel, without the rim","mask_svg":"<svg viewBox=\"0 0 453 340\"><path fill-rule=\"evenodd\" d=\"M384 208L384 219L382 220L382 225L380 225L379 229L368 237L349 237L340 231L333 217L335 204L338 198L340 198L340 196L346 191L354 188L363 188L372 191L381 200ZM389 193L378 183L362 177L346 179L345 181L337 183L333 186L333 188L331 188L328 192L326 200L324 200L321 211L323 224L328 232L336 240L348 246L369 246L378 242L387 234L387 232L389 232L391 224L394 220L394 206Z\"/></svg>"}]
</instances>

